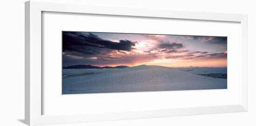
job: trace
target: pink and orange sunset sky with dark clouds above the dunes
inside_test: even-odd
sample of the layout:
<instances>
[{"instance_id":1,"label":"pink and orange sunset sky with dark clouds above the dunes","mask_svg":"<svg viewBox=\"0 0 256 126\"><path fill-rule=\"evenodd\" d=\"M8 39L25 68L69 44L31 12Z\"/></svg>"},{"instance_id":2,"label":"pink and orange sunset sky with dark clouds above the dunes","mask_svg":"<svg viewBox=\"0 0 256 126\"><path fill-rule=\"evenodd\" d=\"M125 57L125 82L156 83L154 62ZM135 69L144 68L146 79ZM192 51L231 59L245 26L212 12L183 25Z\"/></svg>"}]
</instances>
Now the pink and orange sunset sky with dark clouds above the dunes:
<instances>
[{"instance_id":1,"label":"pink and orange sunset sky with dark clouds above the dunes","mask_svg":"<svg viewBox=\"0 0 256 126\"><path fill-rule=\"evenodd\" d=\"M227 67L227 37L62 32L62 66Z\"/></svg>"}]
</instances>

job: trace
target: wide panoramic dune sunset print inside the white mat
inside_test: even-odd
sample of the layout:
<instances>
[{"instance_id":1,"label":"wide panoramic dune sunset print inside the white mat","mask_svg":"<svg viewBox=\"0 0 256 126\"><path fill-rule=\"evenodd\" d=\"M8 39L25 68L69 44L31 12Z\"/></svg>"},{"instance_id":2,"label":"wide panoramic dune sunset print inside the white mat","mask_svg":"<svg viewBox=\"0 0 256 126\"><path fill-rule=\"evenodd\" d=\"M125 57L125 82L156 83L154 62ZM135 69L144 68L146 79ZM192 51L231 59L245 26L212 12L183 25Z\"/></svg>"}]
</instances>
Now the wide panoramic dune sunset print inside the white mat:
<instances>
[{"instance_id":1,"label":"wide panoramic dune sunset print inside the white mat","mask_svg":"<svg viewBox=\"0 0 256 126\"><path fill-rule=\"evenodd\" d=\"M62 94L227 89L227 37L62 31Z\"/></svg>"}]
</instances>

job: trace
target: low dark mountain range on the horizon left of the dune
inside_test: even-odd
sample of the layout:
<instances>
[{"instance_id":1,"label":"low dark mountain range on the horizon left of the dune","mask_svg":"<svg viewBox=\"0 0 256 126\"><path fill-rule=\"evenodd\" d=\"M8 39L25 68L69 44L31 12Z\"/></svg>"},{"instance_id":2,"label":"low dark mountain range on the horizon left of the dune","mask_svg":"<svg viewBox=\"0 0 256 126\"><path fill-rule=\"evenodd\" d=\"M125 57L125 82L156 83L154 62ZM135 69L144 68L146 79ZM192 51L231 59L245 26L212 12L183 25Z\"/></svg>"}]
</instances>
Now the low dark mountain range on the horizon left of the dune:
<instances>
[{"instance_id":1,"label":"low dark mountain range on the horizon left of the dune","mask_svg":"<svg viewBox=\"0 0 256 126\"><path fill-rule=\"evenodd\" d=\"M100 67L100 66L91 66L91 65L73 65L73 66L67 66L67 67L62 67L63 69L113 69L113 68L126 68L129 66L104 66L104 67Z\"/></svg>"}]
</instances>

